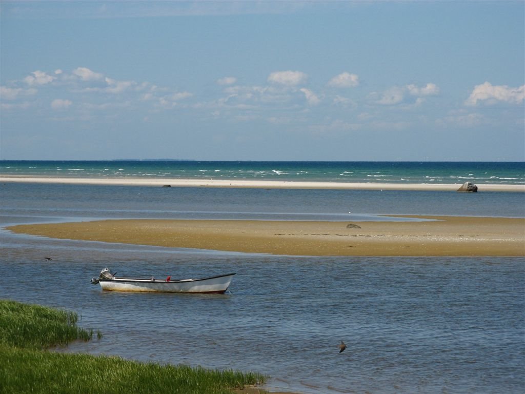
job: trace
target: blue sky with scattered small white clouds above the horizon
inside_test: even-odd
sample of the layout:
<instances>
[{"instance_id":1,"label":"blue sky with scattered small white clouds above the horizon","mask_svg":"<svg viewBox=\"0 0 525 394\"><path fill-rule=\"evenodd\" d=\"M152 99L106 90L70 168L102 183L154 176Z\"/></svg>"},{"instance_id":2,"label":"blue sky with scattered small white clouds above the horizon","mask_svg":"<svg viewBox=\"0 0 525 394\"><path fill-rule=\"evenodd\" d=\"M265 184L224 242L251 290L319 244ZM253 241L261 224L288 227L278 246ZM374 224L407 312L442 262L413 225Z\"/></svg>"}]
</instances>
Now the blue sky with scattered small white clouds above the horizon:
<instances>
[{"instance_id":1,"label":"blue sky with scattered small white clouds above the horizon","mask_svg":"<svg viewBox=\"0 0 525 394\"><path fill-rule=\"evenodd\" d=\"M0 2L0 159L524 161L525 1Z\"/></svg>"}]
</instances>

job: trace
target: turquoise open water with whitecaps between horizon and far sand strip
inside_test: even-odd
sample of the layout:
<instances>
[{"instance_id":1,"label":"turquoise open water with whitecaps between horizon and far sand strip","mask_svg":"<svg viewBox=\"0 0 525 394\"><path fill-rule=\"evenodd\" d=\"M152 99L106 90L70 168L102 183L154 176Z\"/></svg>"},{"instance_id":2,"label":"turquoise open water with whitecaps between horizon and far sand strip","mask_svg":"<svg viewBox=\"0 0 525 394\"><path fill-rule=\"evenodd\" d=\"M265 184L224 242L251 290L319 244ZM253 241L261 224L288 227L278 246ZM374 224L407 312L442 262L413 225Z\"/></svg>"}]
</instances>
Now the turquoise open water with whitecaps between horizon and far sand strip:
<instances>
[{"instance_id":1,"label":"turquoise open water with whitecaps between horizon and far sand strip","mask_svg":"<svg viewBox=\"0 0 525 394\"><path fill-rule=\"evenodd\" d=\"M1 174L56 177L525 184L525 162L0 161Z\"/></svg>"}]
</instances>

